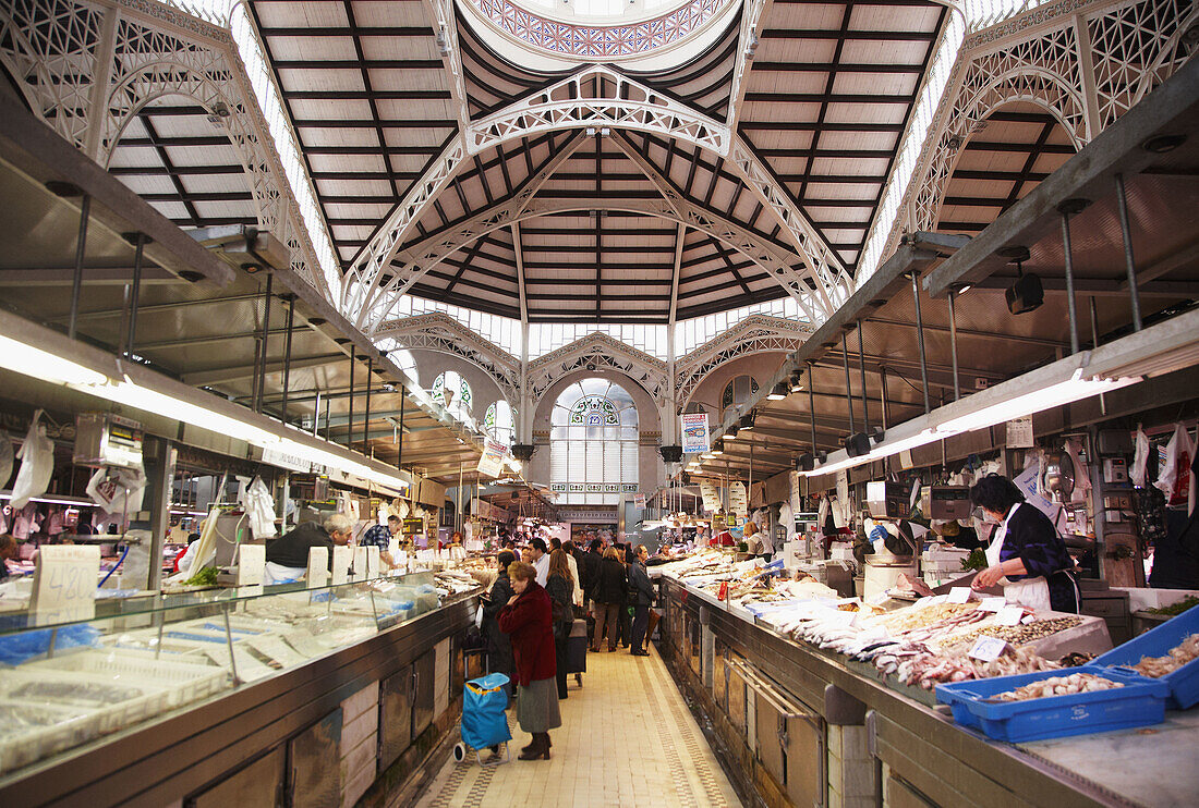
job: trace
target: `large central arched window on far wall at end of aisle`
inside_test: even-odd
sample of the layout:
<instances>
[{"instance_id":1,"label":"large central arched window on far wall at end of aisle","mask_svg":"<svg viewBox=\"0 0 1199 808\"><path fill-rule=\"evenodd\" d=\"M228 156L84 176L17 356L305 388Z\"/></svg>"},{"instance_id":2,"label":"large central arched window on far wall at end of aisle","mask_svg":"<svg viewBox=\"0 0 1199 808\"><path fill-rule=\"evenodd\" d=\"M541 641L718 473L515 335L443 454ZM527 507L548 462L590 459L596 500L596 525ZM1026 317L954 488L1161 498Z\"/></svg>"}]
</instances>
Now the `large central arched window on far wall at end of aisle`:
<instances>
[{"instance_id":1,"label":"large central arched window on far wall at end of aisle","mask_svg":"<svg viewBox=\"0 0 1199 808\"><path fill-rule=\"evenodd\" d=\"M637 406L603 378L571 384L549 418L549 482L559 502L615 505L637 491Z\"/></svg>"}]
</instances>

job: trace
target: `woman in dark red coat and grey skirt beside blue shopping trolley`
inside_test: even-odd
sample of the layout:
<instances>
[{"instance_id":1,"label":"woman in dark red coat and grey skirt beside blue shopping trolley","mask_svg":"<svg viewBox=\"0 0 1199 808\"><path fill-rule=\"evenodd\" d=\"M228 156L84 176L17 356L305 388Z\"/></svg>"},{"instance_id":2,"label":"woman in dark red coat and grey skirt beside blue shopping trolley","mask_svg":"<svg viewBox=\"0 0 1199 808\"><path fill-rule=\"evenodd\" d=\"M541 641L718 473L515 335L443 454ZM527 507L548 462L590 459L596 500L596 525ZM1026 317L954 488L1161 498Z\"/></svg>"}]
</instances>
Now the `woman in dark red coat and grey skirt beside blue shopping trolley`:
<instances>
[{"instance_id":1,"label":"woman in dark red coat and grey skirt beside blue shopping trolley","mask_svg":"<svg viewBox=\"0 0 1199 808\"><path fill-rule=\"evenodd\" d=\"M500 609L500 631L512 639L517 669L517 721L532 735L520 760L549 760L549 730L562 725L558 710L554 618L549 595L532 564L513 561L508 578L516 593Z\"/></svg>"}]
</instances>

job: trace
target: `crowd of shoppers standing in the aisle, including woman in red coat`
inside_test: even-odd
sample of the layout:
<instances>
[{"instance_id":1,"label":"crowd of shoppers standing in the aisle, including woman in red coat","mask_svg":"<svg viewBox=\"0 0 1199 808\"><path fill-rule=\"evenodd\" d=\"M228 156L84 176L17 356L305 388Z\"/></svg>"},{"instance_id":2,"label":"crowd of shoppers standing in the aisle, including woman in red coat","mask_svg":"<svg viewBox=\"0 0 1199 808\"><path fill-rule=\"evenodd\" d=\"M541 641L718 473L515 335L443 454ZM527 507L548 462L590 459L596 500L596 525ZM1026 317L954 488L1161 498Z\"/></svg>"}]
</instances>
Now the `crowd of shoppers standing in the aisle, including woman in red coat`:
<instances>
[{"instance_id":1,"label":"crowd of shoppers standing in the aisle, including woman in red coat","mask_svg":"<svg viewBox=\"0 0 1199 808\"><path fill-rule=\"evenodd\" d=\"M577 619L594 620L590 650L617 644L649 656L646 638L653 584L649 551L592 539L586 549L572 541L534 537L524 549L502 549L496 578L483 602L482 634L492 672L508 676L517 721L532 736L520 760L549 760L549 731L561 727L560 699L567 698L568 649ZM579 624L579 642L582 643ZM583 652L583 645L578 646ZM582 682L580 682L582 684Z\"/></svg>"}]
</instances>

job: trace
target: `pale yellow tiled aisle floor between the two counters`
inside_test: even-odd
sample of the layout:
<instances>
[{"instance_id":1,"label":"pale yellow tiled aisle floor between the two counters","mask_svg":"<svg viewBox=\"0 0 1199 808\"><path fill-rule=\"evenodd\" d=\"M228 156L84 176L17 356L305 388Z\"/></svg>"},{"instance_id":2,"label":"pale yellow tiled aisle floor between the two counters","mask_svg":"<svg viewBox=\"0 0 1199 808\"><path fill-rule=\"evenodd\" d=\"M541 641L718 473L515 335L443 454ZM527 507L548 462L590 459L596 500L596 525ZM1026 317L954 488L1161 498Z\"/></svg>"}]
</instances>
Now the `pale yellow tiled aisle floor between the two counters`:
<instances>
[{"instance_id":1,"label":"pale yellow tiled aisle floor between the two counters","mask_svg":"<svg viewBox=\"0 0 1199 808\"><path fill-rule=\"evenodd\" d=\"M550 760L516 759L529 736L510 710L512 763L451 759L417 808L741 804L656 651L589 654L560 705Z\"/></svg>"}]
</instances>

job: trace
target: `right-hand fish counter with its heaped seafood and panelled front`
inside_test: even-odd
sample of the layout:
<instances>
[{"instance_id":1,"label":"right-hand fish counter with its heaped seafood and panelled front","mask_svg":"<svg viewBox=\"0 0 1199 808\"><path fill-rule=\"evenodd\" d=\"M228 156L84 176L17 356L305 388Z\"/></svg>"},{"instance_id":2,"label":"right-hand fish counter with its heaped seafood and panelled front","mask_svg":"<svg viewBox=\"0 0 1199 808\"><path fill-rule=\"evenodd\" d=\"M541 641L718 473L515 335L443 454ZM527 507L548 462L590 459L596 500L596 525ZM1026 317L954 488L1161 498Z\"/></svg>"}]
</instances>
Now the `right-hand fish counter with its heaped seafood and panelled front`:
<instances>
[{"instance_id":1,"label":"right-hand fish counter with its heaped seafood and panelled front","mask_svg":"<svg viewBox=\"0 0 1199 808\"><path fill-rule=\"evenodd\" d=\"M716 597L719 584L711 576L663 571L662 655L706 713L727 767L769 806L1170 806L1181 804L1171 797L1177 788L1193 794L1199 785L1199 767L1179 765L1191 753L1170 752L1189 749L1199 737L1187 712L1167 712L1165 723L1150 729L1013 745L958 724L938 705L942 682L998 682L1004 680L987 678L1020 672L1065 679L1084 670L1060 668L1087 663L1110 648L1102 620L1025 613L1028 622L1017 621L1004 634L977 602L940 600L872 616L873 607L852 599L802 606L819 600L813 582L803 582L807 600L788 588L800 582L759 584L763 602L748 594L746 582L754 576L727 565L723 577L724 597ZM805 608L812 609L808 618ZM843 636L830 627L838 622L830 615L842 608L845 626L868 630ZM983 633L1011 637L998 661L962 654L972 649L980 624L990 626ZM897 637L921 639L896 643ZM1068 657L1076 644L1090 651ZM885 660L880 649L896 658ZM1144 689L1159 711L1165 697L1157 691L1164 686ZM1131 721L1135 725L1138 717ZM1141 764L1135 777L1125 776L1128 748ZM1153 779L1155 788L1137 785Z\"/></svg>"}]
</instances>

